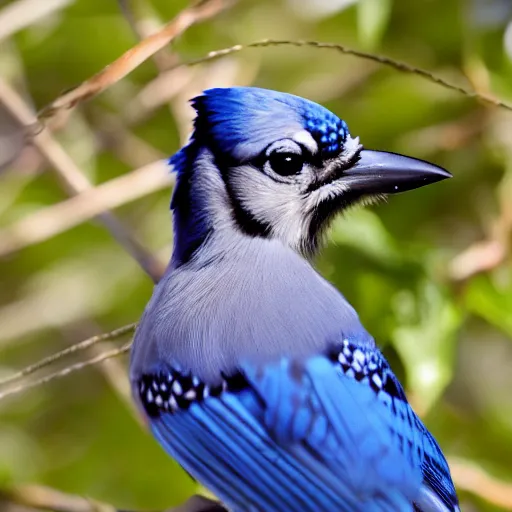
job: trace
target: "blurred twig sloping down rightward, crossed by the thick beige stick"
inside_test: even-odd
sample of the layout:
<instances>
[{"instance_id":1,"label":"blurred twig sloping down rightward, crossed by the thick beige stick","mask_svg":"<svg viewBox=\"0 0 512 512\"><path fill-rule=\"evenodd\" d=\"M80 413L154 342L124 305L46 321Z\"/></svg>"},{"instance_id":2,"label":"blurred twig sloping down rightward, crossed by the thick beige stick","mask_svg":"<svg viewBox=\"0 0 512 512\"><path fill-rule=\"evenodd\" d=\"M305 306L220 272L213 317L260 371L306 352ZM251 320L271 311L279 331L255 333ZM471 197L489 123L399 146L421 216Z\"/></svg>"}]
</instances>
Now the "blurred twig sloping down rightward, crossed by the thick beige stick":
<instances>
[{"instance_id":1,"label":"blurred twig sloping down rightward, crossed by the thick beige stick","mask_svg":"<svg viewBox=\"0 0 512 512\"><path fill-rule=\"evenodd\" d=\"M22 125L33 128L33 133L31 134L32 144L48 160L51 170L69 195L74 196L92 188L87 177L64 151L62 146L52 137L49 130L35 129L39 125L35 115L21 96L1 78L0 102L5 105ZM102 213L98 218L112 233L114 238L151 276L153 281L158 281L164 270L163 265L147 252L119 219L110 212Z\"/></svg>"}]
</instances>

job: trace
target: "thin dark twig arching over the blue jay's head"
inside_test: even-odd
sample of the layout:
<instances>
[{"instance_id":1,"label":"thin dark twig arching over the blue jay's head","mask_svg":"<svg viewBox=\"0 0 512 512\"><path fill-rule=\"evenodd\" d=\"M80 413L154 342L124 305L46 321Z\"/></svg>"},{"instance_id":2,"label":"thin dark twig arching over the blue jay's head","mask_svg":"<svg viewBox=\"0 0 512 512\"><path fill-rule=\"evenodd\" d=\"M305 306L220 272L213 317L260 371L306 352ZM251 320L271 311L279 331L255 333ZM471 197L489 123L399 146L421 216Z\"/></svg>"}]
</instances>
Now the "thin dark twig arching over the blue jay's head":
<instances>
[{"instance_id":1,"label":"thin dark twig arching over the blue jay's head","mask_svg":"<svg viewBox=\"0 0 512 512\"><path fill-rule=\"evenodd\" d=\"M425 78L426 80L428 80L430 82L433 82L442 87L445 87L446 89L450 89L452 91L460 93L469 98L475 98L475 99L481 100L485 103L494 105L495 107L504 108L506 110L512 111L512 105L509 105L508 103L505 103L501 100L497 100L496 98L489 96L487 94L480 94L476 91L472 91L472 90L466 89L464 87L461 87L459 85L452 84L451 82L448 82L444 78L441 78L441 77L435 75L434 73L427 71L425 69L418 68L416 66L412 66L410 64L407 64L406 62L395 60L390 57L386 57L384 55L377 55L374 53L368 53L368 52L363 52L360 50L355 50L353 48L349 48L347 46L344 46L342 44L337 44L337 43L322 43L319 41L301 41L301 40L289 41L289 40L262 39L261 41L255 41L253 43L248 43L245 45L237 44L237 45L231 46L229 48L223 48L221 50L211 51L206 56L201 57L199 59L185 62L185 63L183 63L183 65L194 66L196 64L201 64L203 62L218 59L220 57L224 57L224 56L230 55L232 53L237 53L242 50L246 50L248 48L266 48L266 47L274 47L274 46L298 46L298 47L309 46L312 48L324 48L324 49L328 49L328 50L336 50L345 55L353 55L354 57L359 57L361 59L370 60L372 62L378 62L379 64L382 64L384 66L389 66L393 69L396 69L397 71L401 71L404 73L411 73L414 75L421 76L422 78Z\"/></svg>"}]
</instances>

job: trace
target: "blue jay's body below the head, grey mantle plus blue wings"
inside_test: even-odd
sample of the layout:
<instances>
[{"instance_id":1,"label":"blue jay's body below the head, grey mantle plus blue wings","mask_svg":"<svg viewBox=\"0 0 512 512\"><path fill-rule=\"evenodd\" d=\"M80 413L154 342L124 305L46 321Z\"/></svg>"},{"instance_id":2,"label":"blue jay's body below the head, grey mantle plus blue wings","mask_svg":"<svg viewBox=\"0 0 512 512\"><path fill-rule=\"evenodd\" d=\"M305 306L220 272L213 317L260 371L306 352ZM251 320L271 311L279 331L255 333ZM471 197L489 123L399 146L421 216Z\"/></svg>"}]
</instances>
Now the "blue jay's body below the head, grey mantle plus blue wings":
<instances>
[{"instance_id":1,"label":"blue jay's body below the head, grey mantle plus blue wings","mask_svg":"<svg viewBox=\"0 0 512 512\"><path fill-rule=\"evenodd\" d=\"M187 471L237 511L412 510L425 468L446 485L344 297L279 242L211 243L156 287L132 354L153 432Z\"/></svg>"}]
</instances>

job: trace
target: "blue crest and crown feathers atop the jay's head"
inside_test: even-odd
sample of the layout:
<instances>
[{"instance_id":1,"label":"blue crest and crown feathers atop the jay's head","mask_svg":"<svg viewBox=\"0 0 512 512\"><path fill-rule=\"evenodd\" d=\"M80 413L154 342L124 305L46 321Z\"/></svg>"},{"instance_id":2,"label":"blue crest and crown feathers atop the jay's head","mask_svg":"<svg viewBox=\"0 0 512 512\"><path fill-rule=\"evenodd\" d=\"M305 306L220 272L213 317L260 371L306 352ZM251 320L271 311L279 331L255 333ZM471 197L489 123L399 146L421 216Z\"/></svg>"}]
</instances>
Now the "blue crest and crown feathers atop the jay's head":
<instances>
[{"instance_id":1,"label":"blue crest and crown feathers atop the jay's head","mask_svg":"<svg viewBox=\"0 0 512 512\"><path fill-rule=\"evenodd\" d=\"M332 158L343 150L348 127L338 116L312 101L257 87L215 88L192 100L197 111L194 134L188 146L170 163L178 172L192 157L197 144L237 163L250 161L272 142L308 130L322 157Z\"/></svg>"}]
</instances>

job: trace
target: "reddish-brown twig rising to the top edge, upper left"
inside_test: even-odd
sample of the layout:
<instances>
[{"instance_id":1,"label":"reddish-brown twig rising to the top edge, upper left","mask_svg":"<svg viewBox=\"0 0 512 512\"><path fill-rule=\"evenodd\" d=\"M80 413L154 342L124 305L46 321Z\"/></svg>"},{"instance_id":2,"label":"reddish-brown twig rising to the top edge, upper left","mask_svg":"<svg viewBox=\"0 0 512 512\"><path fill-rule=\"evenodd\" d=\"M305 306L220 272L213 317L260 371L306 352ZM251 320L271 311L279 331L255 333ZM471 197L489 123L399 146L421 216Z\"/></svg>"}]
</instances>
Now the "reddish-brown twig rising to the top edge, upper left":
<instances>
[{"instance_id":1,"label":"reddish-brown twig rising to the top edge, upper left","mask_svg":"<svg viewBox=\"0 0 512 512\"><path fill-rule=\"evenodd\" d=\"M55 115L62 109L70 109L78 103L96 96L114 83L124 78L156 52L164 48L190 26L215 16L231 5L233 0L203 0L188 9L181 11L176 18L167 23L160 31L143 39L130 48L112 64L86 80L75 89L59 96L53 103L45 107L39 119Z\"/></svg>"}]
</instances>

